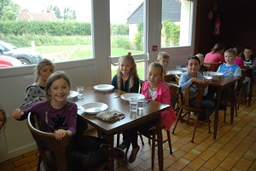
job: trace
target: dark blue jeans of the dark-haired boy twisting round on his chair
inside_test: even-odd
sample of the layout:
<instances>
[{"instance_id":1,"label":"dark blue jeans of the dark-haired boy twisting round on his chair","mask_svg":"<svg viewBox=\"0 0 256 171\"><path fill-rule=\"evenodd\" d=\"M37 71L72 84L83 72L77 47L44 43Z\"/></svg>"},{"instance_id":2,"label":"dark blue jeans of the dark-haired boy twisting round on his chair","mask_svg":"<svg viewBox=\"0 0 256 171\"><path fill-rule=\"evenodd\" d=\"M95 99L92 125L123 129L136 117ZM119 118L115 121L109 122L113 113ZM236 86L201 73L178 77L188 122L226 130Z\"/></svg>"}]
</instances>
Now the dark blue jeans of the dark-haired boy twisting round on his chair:
<instances>
[{"instance_id":1,"label":"dark blue jeans of the dark-haired boy twisting round on his chair","mask_svg":"<svg viewBox=\"0 0 256 171\"><path fill-rule=\"evenodd\" d=\"M192 106L195 106L195 100L196 100L196 98L194 98L192 100L189 100L189 104L192 105ZM215 109L214 100L212 100L211 98L209 98L207 96L204 96L203 99L201 100L201 108L208 109L209 114L211 115L212 112ZM207 111L202 112L200 117L199 117L199 120L201 120L201 121L206 120L206 119L207 119Z\"/></svg>"}]
</instances>

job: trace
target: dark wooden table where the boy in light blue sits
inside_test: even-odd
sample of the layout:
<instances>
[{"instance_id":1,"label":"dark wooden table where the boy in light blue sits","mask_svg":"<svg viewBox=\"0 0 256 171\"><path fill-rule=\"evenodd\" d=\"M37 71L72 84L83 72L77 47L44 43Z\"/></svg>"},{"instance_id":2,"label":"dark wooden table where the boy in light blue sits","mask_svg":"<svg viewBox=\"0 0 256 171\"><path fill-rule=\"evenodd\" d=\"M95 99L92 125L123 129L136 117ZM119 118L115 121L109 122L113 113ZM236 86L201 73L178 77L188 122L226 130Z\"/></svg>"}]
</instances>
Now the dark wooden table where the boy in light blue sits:
<instances>
[{"instance_id":1,"label":"dark wooden table where the boy in light blue sits","mask_svg":"<svg viewBox=\"0 0 256 171\"><path fill-rule=\"evenodd\" d=\"M230 123L233 124L234 119L234 104L236 100L235 98L235 85L236 82L240 79L240 77L213 77L212 80L209 81L209 88L216 88L217 97L216 97L216 108L215 108L215 116L214 116L214 128L213 128L213 139L216 140L217 131L218 131L218 111L219 105L221 102L221 94L224 89L231 88L231 104L230 104Z\"/></svg>"}]
</instances>

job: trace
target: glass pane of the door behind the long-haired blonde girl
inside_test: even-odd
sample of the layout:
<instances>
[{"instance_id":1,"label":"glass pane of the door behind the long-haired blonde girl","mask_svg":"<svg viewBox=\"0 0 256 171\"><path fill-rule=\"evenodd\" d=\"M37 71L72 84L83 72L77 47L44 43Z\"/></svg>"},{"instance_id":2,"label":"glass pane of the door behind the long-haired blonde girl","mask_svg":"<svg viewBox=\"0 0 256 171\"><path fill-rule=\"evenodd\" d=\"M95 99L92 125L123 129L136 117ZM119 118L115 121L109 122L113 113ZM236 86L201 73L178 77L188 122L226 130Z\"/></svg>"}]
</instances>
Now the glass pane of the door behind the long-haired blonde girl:
<instances>
[{"instance_id":1,"label":"glass pane of the door behind the long-haired blonde girl","mask_svg":"<svg viewBox=\"0 0 256 171\"><path fill-rule=\"evenodd\" d=\"M143 0L110 0L111 56L128 52L143 54ZM112 77L118 66L112 66ZM143 63L137 63L137 73L143 78Z\"/></svg>"}]
</instances>

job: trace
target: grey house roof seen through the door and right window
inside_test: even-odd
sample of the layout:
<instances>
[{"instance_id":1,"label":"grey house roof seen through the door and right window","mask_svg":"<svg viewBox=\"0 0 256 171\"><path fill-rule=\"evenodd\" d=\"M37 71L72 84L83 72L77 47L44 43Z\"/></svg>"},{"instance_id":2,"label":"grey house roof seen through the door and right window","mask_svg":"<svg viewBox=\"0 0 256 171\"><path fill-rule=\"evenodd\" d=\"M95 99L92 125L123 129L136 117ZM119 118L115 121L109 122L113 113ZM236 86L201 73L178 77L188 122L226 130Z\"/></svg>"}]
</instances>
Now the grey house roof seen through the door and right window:
<instances>
[{"instance_id":1,"label":"grey house roof seen through the door and right window","mask_svg":"<svg viewBox=\"0 0 256 171\"><path fill-rule=\"evenodd\" d=\"M127 19L128 24L136 24L143 22L143 8L142 3ZM181 3L179 0L163 0L162 1L162 20L170 20L171 22L180 21Z\"/></svg>"}]
</instances>

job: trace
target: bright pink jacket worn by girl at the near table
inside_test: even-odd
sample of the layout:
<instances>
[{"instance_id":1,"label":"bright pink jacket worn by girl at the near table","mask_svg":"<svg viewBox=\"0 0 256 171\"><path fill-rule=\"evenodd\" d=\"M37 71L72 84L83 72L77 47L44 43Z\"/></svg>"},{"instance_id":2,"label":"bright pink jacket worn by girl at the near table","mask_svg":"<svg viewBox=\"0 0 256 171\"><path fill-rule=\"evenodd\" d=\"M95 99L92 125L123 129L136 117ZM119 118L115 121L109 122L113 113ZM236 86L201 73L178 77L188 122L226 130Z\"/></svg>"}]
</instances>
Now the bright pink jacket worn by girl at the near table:
<instances>
[{"instance_id":1,"label":"bright pink jacket worn by girl at the near table","mask_svg":"<svg viewBox=\"0 0 256 171\"><path fill-rule=\"evenodd\" d=\"M143 87L142 87L142 94L147 99L150 98L148 97L148 86L149 86L149 83L148 81L146 81L143 83ZM165 83L160 82L158 84L154 100L163 104L171 105L170 89L168 88L168 86L166 86ZM172 127L172 123L177 120L175 112L172 109L172 105L169 110L161 112L161 117L162 117L162 125L165 126L167 130L170 130L170 128Z\"/></svg>"}]
</instances>

